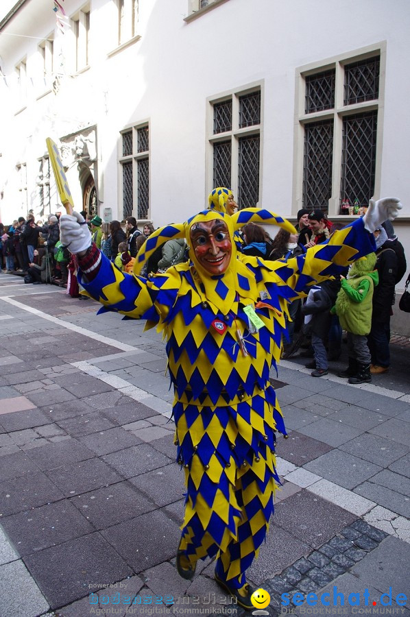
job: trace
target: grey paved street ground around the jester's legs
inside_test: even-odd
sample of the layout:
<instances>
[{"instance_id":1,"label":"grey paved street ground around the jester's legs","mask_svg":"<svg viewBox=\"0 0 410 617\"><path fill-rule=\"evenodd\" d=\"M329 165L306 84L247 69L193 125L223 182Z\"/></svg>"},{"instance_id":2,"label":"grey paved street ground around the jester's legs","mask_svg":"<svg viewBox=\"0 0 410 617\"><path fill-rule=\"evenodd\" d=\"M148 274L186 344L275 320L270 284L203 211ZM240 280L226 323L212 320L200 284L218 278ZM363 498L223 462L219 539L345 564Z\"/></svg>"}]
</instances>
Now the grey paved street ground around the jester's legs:
<instances>
[{"instance_id":1,"label":"grey paved street ground around the jester's legs","mask_svg":"<svg viewBox=\"0 0 410 617\"><path fill-rule=\"evenodd\" d=\"M176 572L184 488L164 344L97 309L0 274L0 615L241 616L209 560L191 582ZM289 439L248 570L267 614L410 617L407 343L395 337L371 384L337 377L344 348L324 378L300 355L272 374Z\"/></svg>"}]
</instances>

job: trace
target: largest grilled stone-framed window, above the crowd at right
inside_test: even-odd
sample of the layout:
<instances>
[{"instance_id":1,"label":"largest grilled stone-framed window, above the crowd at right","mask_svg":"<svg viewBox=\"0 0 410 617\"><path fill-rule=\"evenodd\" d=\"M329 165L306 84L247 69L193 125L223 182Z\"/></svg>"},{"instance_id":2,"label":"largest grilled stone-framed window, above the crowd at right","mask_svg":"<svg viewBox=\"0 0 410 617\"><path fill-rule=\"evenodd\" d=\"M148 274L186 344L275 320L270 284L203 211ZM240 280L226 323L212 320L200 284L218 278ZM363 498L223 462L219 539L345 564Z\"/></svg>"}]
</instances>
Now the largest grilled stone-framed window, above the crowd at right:
<instances>
[{"instance_id":1,"label":"largest grilled stone-framed window, above the crowd at right","mask_svg":"<svg viewBox=\"0 0 410 617\"><path fill-rule=\"evenodd\" d=\"M381 49L371 56L367 52L367 58L358 60L341 56L333 62L334 68L326 62L326 70L309 69L307 75L300 71L304 106L298 190L304 208L346 214L346 209L341 211L342 202L352 206L357 199L360 206L367 206L375 193L381 53ZM335 75L344 75L344 80L336 80Z\"/></svg>"}]
</instances>

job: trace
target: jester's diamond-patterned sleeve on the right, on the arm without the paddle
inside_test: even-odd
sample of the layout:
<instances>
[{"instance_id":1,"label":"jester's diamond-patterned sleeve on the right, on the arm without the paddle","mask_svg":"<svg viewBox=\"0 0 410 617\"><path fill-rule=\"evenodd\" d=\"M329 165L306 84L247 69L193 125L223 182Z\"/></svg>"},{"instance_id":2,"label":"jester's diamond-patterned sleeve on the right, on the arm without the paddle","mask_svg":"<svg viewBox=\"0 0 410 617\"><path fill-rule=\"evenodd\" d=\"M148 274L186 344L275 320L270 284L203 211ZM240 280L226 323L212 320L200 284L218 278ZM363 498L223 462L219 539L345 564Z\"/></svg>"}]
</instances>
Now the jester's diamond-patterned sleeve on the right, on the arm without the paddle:
<instances>
[{"instance_id":1,"label":"jester's diamond-patterned sleeve on the right, on the arm without the paddle","mask_svg":"<svg viewBox=\"0 0 410 617\"><path fill-rule=\"evenodd\" d=\"M376 243L372 234L364 227L363 219L335 231L330 238L306 251L306 254L289 259L286 263L271 262L272 281L283 290L287 300L304 297L311 285L322 282L331 276L344 274L346 266L360 257L374 252ZM264 262L264 265L267 263ZM289 293L289 288L291 293Z\"/></svg>"}]
</instances>

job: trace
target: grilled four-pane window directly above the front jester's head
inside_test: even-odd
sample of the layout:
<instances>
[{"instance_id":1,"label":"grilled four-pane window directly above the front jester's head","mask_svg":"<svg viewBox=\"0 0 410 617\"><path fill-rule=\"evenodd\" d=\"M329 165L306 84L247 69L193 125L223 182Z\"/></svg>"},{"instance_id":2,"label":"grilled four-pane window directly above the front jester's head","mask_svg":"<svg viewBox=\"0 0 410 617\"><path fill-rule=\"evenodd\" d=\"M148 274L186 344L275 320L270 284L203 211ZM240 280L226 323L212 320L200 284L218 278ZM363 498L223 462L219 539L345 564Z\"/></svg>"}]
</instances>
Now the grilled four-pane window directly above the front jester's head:
<instances>
[{"instance_id":1,"label":"grilled four-pane window directly above the front jester's head","mask_svg":"<svg viewBox=\"0 0 410 617\"><path fill-rule=\"evenodd\" d=\"M239 208L256 206L259 199L261 156L261 86L234 91L223 101L209 99L210 192L232 189ZM221 133L224 133L222 135Z\"/></svg>"}]
</instances>

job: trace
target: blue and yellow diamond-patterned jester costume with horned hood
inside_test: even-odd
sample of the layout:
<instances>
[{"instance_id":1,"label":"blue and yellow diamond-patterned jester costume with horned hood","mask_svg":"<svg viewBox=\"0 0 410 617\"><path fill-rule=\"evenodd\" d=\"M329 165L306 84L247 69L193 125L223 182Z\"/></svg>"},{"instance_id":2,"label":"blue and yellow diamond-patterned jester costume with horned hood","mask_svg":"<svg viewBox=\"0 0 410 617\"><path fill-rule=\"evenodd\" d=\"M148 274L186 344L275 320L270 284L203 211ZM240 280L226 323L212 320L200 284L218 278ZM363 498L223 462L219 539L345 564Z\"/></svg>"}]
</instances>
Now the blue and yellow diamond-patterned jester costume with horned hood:
<instances>
[{"instance_id":1,"label":"blue and yellow diamond-patterned jester costume with horned hood","mask_svg":"<svg viewBox=\"0 0 410 617\"><path fill-rule=\"evenodd\" d=\"M176 237L190 243L195 223L218 218L231 240L251 220L293 230L267 210L248 208L232 217L205 210L154 232L138 253L134 276L101 255L97 276L87 282L80 271L79 280L104 305L101 311L147 319L147 328L156 326L167 339L186 483L180 550L191 564L217 555L219 579L241 588L265 539L279 483L276 432L286 431L269 370L280 358L287 304L373 252L374 240L358 219L286 263L243 256L232 243L230 264L219 276L202 269L192 247L191 262L149 279L138 276L159 243Z\"/></svg>"}]
</instances>

